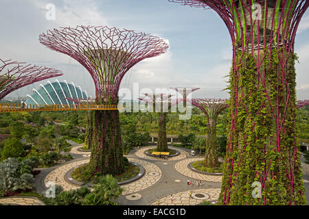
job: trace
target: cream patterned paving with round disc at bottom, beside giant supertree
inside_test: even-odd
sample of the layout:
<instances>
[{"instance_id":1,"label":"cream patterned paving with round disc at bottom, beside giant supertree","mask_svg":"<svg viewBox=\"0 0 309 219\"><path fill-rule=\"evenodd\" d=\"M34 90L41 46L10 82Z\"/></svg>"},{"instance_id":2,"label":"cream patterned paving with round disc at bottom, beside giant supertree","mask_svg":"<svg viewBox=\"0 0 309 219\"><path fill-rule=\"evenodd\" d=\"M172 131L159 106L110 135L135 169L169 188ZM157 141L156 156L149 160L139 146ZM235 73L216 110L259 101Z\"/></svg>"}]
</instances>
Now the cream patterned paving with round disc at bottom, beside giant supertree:
<instances>
[{"instance_id":1,"label":"cream patterned paving with round disc at bottom, beside giant supertree","mask_svg":"<svg viewBox=\"0 0 309 219\"><path fill-rule=\"evenodd\" d=\"M220 195L220 188L216 189L199 189L188 190L185 192L178 192L172 194L172 200L170 195L151 203L150 205L198 205L203 201L217 201ZM192 192L192 198L190 198L190 192ZM200 194L200 195L198 195ZM198 196L204 195L204 198L198 198ZM196 198L194 198L196 197Z\"/></svg>"}]
</instances>

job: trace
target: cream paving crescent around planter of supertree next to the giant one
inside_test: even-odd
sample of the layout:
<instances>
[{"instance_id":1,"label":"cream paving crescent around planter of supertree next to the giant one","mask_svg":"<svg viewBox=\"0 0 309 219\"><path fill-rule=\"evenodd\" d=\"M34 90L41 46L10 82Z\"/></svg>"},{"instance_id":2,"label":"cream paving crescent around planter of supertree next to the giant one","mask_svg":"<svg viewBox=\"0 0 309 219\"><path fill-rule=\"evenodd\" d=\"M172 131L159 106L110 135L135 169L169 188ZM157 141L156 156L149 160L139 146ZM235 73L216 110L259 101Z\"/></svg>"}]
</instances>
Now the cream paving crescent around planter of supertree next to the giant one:
<instances>
[{"instance_id":1,"label":"cream paving crescent around planter of supertree next to the giant one","mask_svg":"<svg viewBox=\"0 0 309 219\"><path fill-rule=\"evenodd\" d=\"M187 167L191 162L196 162L198 160L203 160L203 158L192 158L192 159L184 159L180 162L177 162L174 165L174 168L180 172L182 175L193 179L199 179L203 181L211 181L211 182L221 182L222 176L214 176L214 175L205 175L202 173L194 172L190 168ZM192 183L195 183L194 181Z\"/></svg>"}]
</instances>

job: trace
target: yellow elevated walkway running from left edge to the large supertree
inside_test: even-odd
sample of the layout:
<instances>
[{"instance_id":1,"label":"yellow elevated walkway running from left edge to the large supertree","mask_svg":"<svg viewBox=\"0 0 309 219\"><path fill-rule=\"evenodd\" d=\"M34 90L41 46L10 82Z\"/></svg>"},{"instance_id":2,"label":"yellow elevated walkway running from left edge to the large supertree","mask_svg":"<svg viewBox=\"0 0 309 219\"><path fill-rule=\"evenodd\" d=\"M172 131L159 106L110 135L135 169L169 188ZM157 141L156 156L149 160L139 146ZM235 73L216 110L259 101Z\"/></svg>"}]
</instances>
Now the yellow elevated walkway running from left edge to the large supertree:
<instances>
[{"instance_id":1,"label":"yellow elevated walkway running from left edge to the large supertree","mask_svg":"<svg viewBox=\"0 0 309 219\"><path fill-rule=\"evenodd\" d=\"M118 110L118 105L22 105L0 104L0 112L36 112L36 111L73 111L73 110Z\"/></svg>"}]
</instances>

